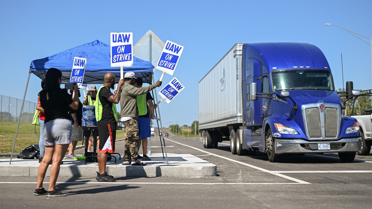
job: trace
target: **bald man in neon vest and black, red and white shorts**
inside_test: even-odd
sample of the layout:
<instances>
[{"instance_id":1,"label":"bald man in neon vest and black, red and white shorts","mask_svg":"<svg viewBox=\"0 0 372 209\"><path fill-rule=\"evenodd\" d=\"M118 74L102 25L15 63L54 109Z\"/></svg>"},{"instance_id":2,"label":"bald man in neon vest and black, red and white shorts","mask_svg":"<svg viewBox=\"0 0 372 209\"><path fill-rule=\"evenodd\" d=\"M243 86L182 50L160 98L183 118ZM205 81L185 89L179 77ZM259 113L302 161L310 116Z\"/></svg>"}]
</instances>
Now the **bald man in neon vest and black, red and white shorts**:
<instances>
[{"instance_id":1,"label":"bald man in neon vest and black, red and white shorts","mask_svg":"<svg viewBox=\"0 0 372 209\"><path fill-rule=\"evenodd\" d=\"M96 102L96 119L99 140L99 156L98 156L98 176L97 181L116 181L112 176L106 172L107 156L109 153L115 152L116 139L116 125L118 123L118 116L116 111L116 104L120 101L121 86L124 84L124 79L120 79L118 83L118 92L114 95L110 88L114 89L115 75L106 73L104 83L97 92Z\"/></svg>"}]
</instances>

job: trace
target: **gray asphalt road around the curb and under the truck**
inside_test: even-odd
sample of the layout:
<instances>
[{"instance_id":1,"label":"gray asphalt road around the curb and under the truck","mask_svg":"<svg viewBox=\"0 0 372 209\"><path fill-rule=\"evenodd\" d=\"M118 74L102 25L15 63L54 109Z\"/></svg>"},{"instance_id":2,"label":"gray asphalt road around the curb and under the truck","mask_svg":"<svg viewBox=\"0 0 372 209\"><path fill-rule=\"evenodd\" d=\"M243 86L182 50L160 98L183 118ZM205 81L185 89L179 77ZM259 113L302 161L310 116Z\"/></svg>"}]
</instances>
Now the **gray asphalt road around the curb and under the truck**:
<instances>
[{"instance_id":1,"label":"gray asphalt road around the curb and under the truck","mask_svg":"<svg viewBox=\"0 0 372 209\"><path fill-rule=\"evenodd\" d=\"M166 140L168 152L199 155L217 165L218 176L119 177L115 183L59 177L57 189L68 195L50 199L33 196L35 177L0 177L0 208L371 208L372 173L362 172L372 171L372 154L357 155L353 163L341 163L337 154L288 155L270 163L260 152L232 155L228 143L205 149L199 138ZM152 146L161 152L158 138ZM117 142L116 151L123 147Z\"/></svg>"}]
</instances>

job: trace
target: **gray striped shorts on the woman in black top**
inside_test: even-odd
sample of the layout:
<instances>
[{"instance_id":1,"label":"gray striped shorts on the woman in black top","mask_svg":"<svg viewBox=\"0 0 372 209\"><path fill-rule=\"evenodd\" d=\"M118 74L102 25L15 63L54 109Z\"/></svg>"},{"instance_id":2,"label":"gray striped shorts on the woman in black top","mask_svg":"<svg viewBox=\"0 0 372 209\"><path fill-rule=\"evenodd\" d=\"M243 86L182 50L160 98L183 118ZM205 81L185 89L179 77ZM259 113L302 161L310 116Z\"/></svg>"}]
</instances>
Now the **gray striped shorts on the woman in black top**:
<instances>
[{"instance_id":1,"label":"gray striped shorts on the woman in black top","mask_svg":"<svg viewBox=\"0 0 372 209\"><path fill-rule=\"evenodd\" d=\"M54 119L44 124L44 146L70 144L72 123L68 119Z\"/></svg>"}]
</instances>

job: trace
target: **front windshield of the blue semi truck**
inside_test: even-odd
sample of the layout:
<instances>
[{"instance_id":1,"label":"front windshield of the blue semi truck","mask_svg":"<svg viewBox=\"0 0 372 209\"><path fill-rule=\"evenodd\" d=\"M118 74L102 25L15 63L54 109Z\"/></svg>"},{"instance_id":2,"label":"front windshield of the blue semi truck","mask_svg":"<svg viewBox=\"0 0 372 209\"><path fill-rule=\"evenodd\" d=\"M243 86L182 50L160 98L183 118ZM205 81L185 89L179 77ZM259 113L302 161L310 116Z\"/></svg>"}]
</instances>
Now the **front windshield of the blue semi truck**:
<instances>
[{"instance_id":1,"label":"front windshield of the blue semi truck","mask_svg":"<svg viewBox=\"0 0 372 209\"><path fill-rule=\"evenodd\" d=\"M328 70L278 70L272 71L274 91L316 89L333 91L331 73Z\"/></svg>"}]
</instances>

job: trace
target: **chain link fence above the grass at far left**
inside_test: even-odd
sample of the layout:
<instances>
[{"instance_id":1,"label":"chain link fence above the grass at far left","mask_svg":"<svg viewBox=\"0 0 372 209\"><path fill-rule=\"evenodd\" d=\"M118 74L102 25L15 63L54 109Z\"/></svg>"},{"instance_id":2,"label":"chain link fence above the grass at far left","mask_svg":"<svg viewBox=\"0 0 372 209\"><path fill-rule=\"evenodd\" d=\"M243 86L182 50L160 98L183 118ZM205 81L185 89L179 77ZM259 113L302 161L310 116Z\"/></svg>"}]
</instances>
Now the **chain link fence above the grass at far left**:
<instances>
[{"instance_id":1,"label":"chain link fence above the grass at far left","mask_svg":"<svg viewBox=\"0 0 372 209\"><path fill-rule=\"evenodd\" d=\"M25 101L21 122L31 123L36 110L35 102ZM0 121L18 122L22 99L0 95Z\"/></svg>"}]
</instances>

